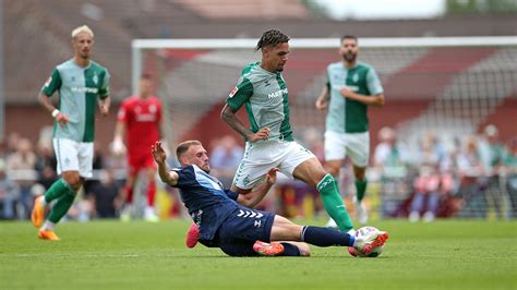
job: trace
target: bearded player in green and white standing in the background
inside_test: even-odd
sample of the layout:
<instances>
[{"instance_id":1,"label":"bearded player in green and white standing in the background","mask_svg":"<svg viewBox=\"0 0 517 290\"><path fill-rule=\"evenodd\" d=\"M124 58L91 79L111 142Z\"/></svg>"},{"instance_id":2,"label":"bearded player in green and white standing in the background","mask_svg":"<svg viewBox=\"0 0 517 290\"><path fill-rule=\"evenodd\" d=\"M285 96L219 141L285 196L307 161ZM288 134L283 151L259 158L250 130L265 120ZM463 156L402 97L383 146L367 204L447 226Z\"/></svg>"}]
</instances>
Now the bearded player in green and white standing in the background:
<instances>
[{"instance_id":1,"label":"bearded player in green and white standing in the background","mask_svg":"<svg viewBox=\"0 0 517 290\"><path fill-rule=\"evenodd\" d=\"M384 95L375 70L359 62L358 53L358 38L350 35L341 37L339 55L342 59L327 67L327 83L315 105L318 110L328 109L325 168L338 178L345 157L350 156L356 177L356 212L359 222L365 223L368 213L362 200L368 184L364 172L370 158L368 106L384 106Z\"/></svg>"}]
</instances>

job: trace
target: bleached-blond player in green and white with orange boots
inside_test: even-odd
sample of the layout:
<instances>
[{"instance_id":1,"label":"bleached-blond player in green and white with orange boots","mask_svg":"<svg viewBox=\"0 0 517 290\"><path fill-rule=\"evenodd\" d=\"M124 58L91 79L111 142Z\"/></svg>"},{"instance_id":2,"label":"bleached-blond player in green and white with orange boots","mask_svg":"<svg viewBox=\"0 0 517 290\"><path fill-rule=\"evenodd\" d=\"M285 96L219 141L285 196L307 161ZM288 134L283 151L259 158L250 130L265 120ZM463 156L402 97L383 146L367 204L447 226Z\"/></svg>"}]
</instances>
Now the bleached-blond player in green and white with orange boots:
<instances>
[{"instance_id":1,"label":"bleached-blond player in green and white with orange boots","mask_svg":"<svg viewBox=\"0 0 517 290\"><path fill-rule=\"evenodd\" d=\"M55 119L53 149L61 178L36 198L33 225L40 228L40 239L57 241L53 228L67 214L86 178L92 178L95 135L95 111L109 112L108 70L91 59L94 33L86 26L72 32L72 59L53 69L39 93L39 101ZM50 97L59 90L59 107ZM47 220L45 212L56 200ZM45 221L45 223L44 223Z\"/></svg>"}]
</instances>

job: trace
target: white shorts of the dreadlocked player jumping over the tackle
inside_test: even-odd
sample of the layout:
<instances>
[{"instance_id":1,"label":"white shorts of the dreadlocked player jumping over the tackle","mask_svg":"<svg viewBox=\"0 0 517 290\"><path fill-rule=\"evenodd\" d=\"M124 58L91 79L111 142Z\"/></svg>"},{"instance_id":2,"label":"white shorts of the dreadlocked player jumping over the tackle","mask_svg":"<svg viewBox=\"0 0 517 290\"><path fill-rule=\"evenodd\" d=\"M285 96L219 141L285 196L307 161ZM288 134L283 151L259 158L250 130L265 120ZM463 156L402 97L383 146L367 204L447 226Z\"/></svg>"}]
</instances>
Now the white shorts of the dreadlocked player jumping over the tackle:
<instances>
[{"instance_id":1,"label":"white shorts of the dreadlocked player jumping over the tackle","mask_svg":"<svg viewBox=\"0 0 517 290\"><path fill-rule=\"evenodd\" d=\"M293 179L292 172L297 166L314 157L314 154L294 141L247 142L244 157L233 177L233 184L242 190L253 189L274 167Z\"/></svg>"}]
</instances>

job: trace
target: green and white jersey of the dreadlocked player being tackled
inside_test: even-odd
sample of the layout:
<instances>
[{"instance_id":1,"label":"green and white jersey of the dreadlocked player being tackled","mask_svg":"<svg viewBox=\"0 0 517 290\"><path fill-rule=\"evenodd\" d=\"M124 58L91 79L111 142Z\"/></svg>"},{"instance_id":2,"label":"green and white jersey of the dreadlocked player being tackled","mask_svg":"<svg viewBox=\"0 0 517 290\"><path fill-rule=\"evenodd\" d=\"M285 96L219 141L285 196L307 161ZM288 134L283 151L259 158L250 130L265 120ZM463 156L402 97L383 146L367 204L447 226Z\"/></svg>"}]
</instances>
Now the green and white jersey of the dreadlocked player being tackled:
<instances>
[{"instance_id":1,"label":"green and white jersey of the dreadlocked player being tackled","mask_svg":"<svg viewBox=\"0 0 517 290\"><path fill-rule=\"evenodd\" d=\"M280 72L272 73L261 68L260 62L244 68L237 86L226 99L237 110L245 105L250 130L270 129L269 140L293 141L289 123L289 98L286 81Z\"/></svg>"}]
</instances>

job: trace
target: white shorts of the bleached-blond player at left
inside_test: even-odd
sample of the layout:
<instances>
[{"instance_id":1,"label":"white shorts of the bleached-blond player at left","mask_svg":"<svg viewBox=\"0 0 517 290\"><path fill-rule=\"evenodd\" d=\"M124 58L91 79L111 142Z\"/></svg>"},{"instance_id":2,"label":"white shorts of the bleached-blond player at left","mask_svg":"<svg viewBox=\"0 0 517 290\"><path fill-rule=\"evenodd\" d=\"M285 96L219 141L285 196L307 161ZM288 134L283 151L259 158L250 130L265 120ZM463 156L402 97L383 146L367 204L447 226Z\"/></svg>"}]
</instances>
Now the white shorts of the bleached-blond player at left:
<instances>
[{"instance_id":1,"label":"white shorts of the bleached-blond player at left","mask_svg":"<svg viewBox=\"0 0 517 290\"><path fill-rule=\"evenodd\" d=\"M76 142L69 138L53 138L53 152L58 160L58 174L79 171L80 177L92 178L94 143Z\"/></svg>"}]
</instances>

